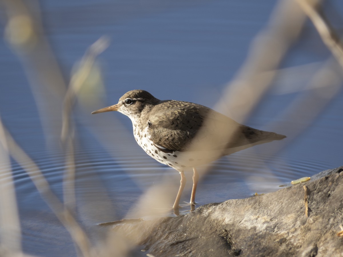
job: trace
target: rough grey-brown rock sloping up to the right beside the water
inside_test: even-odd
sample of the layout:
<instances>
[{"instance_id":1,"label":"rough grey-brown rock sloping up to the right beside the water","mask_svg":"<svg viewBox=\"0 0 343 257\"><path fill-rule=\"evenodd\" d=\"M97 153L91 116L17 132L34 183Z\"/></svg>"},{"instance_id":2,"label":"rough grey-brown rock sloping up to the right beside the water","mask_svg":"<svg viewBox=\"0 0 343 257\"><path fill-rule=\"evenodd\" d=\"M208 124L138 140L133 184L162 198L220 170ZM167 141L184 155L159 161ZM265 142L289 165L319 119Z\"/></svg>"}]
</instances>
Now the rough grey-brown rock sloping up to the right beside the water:
<instances>
[{"instance_id":1,"label":"rough grey-brown rock sloping up to the right beside the water","mask_svg":"<svg viewBox=\"0 0 343 257\"><path fill-rule=\"evenodd\" d=\"M150 256L343 256L343 166L305 183L147 222ZM308 217L305 215L307 187ZM136 252L137 253L137 252Z\"/></svg>"}]
</instances>

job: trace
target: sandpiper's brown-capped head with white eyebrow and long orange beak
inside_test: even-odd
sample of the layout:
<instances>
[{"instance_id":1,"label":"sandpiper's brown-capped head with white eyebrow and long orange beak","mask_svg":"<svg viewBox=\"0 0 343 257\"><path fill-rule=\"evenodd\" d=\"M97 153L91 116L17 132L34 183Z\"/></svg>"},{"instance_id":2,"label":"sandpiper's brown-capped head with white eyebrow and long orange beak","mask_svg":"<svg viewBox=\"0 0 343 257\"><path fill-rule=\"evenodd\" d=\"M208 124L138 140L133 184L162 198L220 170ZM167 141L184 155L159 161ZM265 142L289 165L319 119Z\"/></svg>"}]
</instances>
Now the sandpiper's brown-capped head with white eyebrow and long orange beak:
<instances>
[{"instance_id":1,"label":"sandpiper's brown-capped head with white eyebrow and long orange beak","mask_svg":"<svg viewBox=\"0 0 343 257\"><path fill-rule=\"evenodd\" d=\"M100 112L118 111L127 115L131 120L141 116L143 111L149 111L160 100L155 98L149 92L141 89L131 90L120 97L116 105L111 105L92 112L92 114Z\"/></svg>"}]
</instances>

